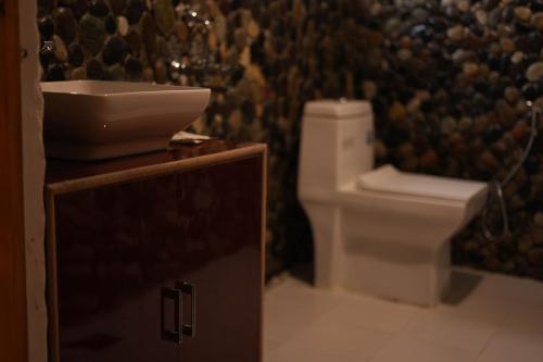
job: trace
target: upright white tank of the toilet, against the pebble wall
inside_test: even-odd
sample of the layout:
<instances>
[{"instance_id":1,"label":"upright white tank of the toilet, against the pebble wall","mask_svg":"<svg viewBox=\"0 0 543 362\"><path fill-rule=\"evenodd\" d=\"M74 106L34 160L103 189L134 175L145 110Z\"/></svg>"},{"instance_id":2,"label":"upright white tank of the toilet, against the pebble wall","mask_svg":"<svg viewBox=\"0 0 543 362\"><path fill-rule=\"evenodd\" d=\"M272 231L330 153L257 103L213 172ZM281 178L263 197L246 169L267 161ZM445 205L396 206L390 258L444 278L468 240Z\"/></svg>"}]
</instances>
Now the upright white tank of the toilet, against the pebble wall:
<instances>
[{"instance_id":1,"label":"upright white tank of the toilet, against the pebble wall","mask_svg":"<svg viewBox=\"0 0 543 362\"><path fill-rule=\"evenodd\" d=\"M374 115L366 101L307 102L302 121L298 195L321 198L374 167Z\"/></svg>"}]
</instances>

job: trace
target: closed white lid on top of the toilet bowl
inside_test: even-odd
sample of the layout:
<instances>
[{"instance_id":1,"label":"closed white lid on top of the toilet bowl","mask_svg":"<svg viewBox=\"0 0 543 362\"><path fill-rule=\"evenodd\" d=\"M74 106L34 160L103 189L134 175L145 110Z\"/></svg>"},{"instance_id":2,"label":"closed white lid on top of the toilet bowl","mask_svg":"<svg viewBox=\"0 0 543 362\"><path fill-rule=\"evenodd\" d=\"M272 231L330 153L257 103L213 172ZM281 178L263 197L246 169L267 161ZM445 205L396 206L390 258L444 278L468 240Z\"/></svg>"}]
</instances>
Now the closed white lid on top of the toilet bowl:
<instances>
[{"instance_id":1,"label":"closed white lid on top of the toilet bowl","mask_svg":"<svg viewBox=\"0 0 543 362\"><path fill-rule=\"evenodd\" d=\"M409 174L384 165L358 177L363 189L419 196L433 199L467 201L484 190L487 184L440 176Z\"/></svg>"}]
</instances>

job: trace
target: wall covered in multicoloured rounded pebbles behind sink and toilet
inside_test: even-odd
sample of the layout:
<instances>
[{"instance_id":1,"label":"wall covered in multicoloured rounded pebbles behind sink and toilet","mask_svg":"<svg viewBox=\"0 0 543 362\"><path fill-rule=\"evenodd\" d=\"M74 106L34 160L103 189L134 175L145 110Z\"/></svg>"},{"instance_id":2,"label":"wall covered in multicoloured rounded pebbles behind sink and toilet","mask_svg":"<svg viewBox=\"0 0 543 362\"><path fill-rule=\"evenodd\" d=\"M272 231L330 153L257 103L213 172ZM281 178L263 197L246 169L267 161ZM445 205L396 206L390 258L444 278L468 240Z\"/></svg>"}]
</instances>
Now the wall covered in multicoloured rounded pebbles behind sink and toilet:
<instances>
[{"instance_id":1,"label":"wall covered in multicoloured rounded pebbles behind sink and toilet","mask_svg":"<svg viewBox=\"0 0 543 362\"><path fill-rule=\"evenodd\" d=\"M192 2L210 25L178 0L38 3L42 40L54 43L45 79L212 86L194 130L269 145L270 273L312 257L295 201L306 100L369 99L378 163L480 180L518 159L526 100L543 105L541 0ZM543 278L542 150L539 138L505 189L512 235L487 241L476 221L454 240L456 262Z\"/></svg>"}]
</instances>

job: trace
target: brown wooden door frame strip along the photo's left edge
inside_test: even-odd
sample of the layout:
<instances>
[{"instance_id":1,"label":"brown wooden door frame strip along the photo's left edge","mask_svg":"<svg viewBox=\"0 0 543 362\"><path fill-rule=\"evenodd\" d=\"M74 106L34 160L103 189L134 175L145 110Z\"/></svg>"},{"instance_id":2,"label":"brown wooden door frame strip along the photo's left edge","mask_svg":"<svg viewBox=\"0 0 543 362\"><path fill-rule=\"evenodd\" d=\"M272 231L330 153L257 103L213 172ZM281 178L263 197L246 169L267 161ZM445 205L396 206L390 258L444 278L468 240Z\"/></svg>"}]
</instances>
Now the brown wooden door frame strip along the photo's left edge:
<instances>
[{"instance_id":1,"label":"brown wooden door frame strip along the photo's left edge","mask_svg":"<svg viewBox=\"0 0 543 362\"><path fill-rule=\"evenodd\" d=\"M0 0L0 361L27 362L18 1Z\"/></svg>"}]
</instances>

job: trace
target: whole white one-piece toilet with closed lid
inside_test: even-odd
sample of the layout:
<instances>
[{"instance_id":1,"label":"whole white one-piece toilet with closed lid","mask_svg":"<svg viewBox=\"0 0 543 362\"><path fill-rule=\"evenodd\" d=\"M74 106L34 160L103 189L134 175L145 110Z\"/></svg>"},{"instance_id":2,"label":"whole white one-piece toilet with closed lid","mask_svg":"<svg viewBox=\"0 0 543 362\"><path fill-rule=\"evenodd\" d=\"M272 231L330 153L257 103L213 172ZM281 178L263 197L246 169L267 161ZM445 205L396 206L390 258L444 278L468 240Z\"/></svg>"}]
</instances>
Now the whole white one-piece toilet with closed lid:
<instances>
[{"instance_id":1,"label":"whole white one-piece toilet with closed lid","mask_svg":"<svg viewBox=\"0 0 543 362\"><path fill-rule=\"evenodd\" d=\"M317 287L433 307L450 284L450 239L487 184L374 170L364 101L314 101L302 124L298 196L313 227Z\"/></svg>"}]
</instances>

